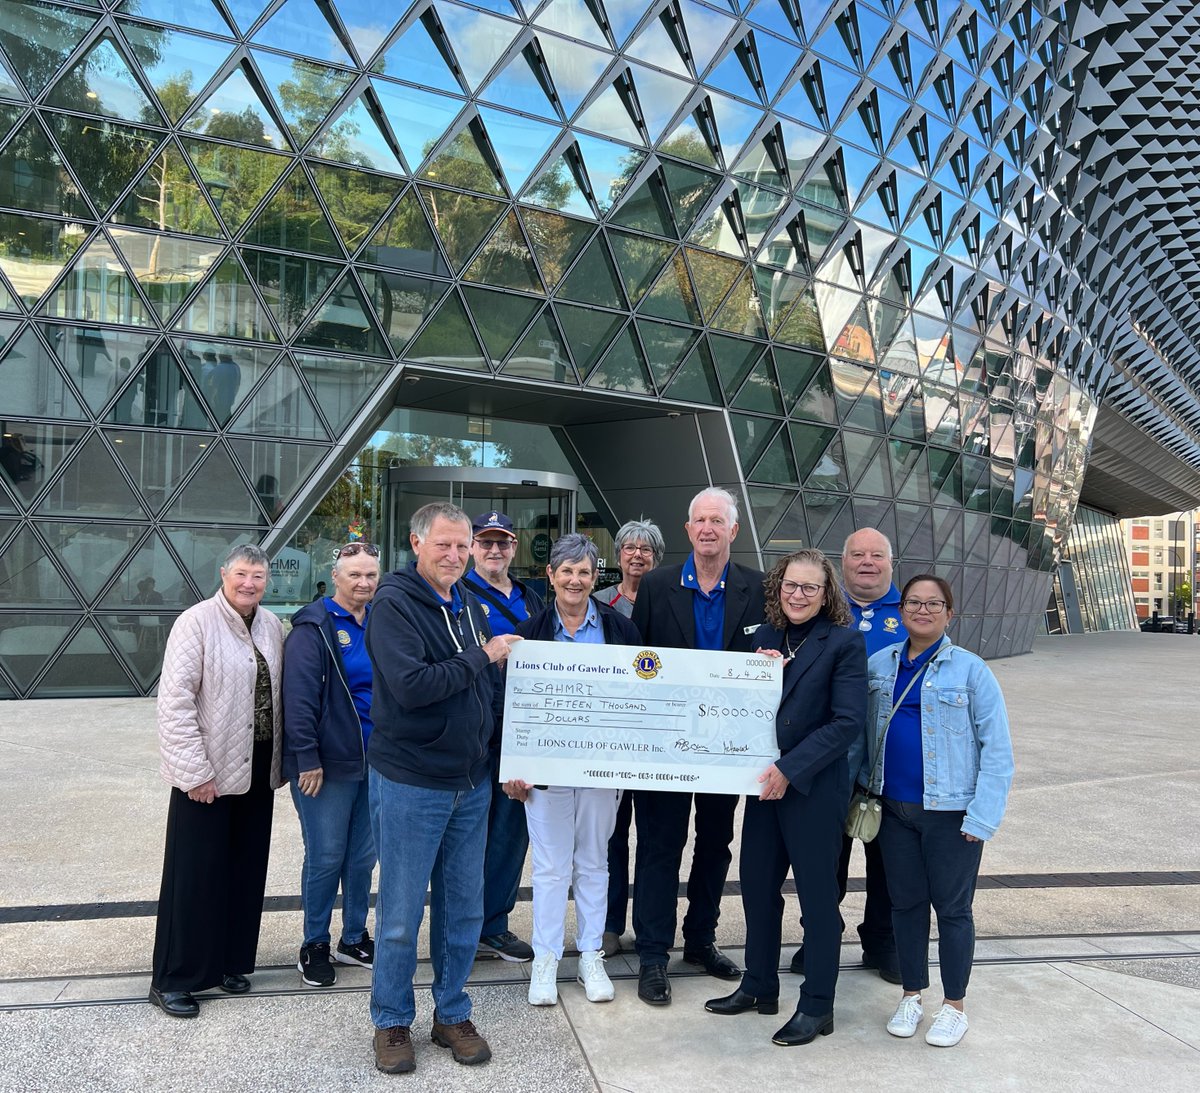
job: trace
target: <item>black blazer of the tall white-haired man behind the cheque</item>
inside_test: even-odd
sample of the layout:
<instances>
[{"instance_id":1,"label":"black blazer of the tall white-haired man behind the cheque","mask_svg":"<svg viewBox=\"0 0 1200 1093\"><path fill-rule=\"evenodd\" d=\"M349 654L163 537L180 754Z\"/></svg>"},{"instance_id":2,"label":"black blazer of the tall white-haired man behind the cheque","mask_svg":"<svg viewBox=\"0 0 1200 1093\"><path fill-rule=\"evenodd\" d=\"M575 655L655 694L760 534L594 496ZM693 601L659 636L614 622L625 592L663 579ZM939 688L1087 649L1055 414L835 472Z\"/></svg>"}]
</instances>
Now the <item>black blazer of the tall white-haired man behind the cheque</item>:
<instances>
[{"instance_id":1,"label":"black blazer of the tall white-haired man behind the cheque","mask_svg":"<svg viewBox=\"0 0 1200 1093\"><path fill-rule=\"evenodd\" d=\"M637 585L634 625L647 645L665 649L696 648L696 615L692 590L679 581L682 565L650 570ZM725 630L721 648L726 653L754 653L755 631L766 618L762 607L763 575L756 569L730 563L725 576ZM866 684L863 684L864 691Z\"/></svg>"}]
</instances>

